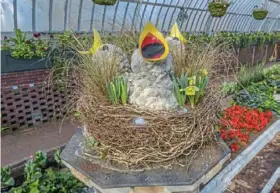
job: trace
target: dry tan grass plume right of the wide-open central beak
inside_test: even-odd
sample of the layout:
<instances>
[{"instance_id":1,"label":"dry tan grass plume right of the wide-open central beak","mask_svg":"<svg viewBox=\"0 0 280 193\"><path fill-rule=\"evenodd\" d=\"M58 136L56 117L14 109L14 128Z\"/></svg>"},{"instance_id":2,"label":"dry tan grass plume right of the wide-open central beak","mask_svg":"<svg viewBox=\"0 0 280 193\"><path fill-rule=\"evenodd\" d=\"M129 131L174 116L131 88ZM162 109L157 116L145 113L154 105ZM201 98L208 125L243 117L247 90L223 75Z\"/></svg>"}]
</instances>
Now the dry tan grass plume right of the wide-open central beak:
<instances>
[{"instance_id":1,"label":"dry tan grass plume right of the wide-open central beak","mask_svg":"<svg viewBox=\"0 0 280 193\"><path fill-rule=\"evenodd\" d=\"M184 45L184 53L178 54L173 49L170 49L170 52L173 55L173 71L177 77L183 72L191 76L206 69L212 78L221 78L222 74L227 75L229 71L235 71L238 63L233 49L230 49L228 44L217 44L215 41L190 41Z\"/></svg>"}]
</instances>

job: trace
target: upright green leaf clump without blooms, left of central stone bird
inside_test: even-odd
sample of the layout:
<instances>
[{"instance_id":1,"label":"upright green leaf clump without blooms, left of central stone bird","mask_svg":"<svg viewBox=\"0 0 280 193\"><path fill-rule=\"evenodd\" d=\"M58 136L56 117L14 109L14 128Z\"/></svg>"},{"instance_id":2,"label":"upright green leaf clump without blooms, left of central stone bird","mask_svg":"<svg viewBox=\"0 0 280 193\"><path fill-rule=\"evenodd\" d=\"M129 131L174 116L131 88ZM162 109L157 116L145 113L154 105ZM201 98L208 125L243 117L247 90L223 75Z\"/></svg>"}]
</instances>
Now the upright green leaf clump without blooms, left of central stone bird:
<instances>
[{"instance_id":1,"label":"upright green leaf clump without blooms, left of central stone bird","mask_svg":"<svg viewBox=\"0 0 280 193\"><path fill-rule=\"evenodd\" d=\"M115 77L107 85L109 100L112 104L125 105L128 100L128 82L122 76Z\"/></svg>"}]
</instances>

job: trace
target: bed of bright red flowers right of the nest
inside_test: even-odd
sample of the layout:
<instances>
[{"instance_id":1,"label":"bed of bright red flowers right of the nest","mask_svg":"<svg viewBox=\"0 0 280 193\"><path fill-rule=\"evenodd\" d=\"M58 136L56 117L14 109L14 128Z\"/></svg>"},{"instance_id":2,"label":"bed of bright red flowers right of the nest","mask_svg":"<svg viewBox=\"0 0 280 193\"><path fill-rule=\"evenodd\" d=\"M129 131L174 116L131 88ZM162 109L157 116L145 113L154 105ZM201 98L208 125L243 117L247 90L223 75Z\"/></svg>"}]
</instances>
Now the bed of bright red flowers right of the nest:
<instances>
[{"instance_id":1,"label":"bed of bright red flowers right of the nest","mask_svg":"<svg viewBox=\"0 0 280 193\"><path fill-rule=\"evenodd\" d=\"M271 111L261 112L236 105L223 112L219 132L234 152L248 143L250 132L257 133L263 130L272 116Z\"/></svg>"}]
</instances>

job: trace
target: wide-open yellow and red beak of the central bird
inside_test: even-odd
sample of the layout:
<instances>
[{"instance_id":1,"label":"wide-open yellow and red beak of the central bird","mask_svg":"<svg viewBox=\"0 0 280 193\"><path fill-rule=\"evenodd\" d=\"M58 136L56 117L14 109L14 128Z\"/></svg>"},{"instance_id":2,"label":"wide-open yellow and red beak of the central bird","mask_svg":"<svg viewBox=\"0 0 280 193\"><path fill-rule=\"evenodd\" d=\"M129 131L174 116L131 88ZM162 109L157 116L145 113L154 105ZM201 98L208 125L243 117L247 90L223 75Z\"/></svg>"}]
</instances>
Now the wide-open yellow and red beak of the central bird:
<instances>
[{"instance_id":1,"label":"wide-open yellow and red beak of the central bird","mask_svg":"<svg viewBox=\"0 0 280 193\"><path fill-rule=\"evenodd\" d=\"M145 25L140 35L139 50L147 61L163 60L168 55L168 44L164 36L150 22Z\"/></svg>"}]
</instances>

